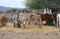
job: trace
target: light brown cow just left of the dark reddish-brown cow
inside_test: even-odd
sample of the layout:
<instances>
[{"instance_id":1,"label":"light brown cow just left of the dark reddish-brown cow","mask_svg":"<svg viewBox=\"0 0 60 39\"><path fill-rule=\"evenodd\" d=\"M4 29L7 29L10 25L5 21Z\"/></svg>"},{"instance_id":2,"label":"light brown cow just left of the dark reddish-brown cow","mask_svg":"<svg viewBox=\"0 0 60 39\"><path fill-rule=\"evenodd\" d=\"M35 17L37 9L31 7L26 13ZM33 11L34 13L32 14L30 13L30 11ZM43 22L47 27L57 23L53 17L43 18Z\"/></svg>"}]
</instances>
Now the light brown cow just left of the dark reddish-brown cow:
<instances>
[{"instance_id":1,"label":"light brown cow just left of the dark reddish-brown cow","mask_svg":"<svg viewBox=\"0 0 60 39\"><path fill-rule=\"evenodd\" d=\"M41 23L41 15L37 15L37 14L34 14L32 13L30 15L30 21L29 21L29 24L34 21L35 25L38 24L39 28L41 28L42 26L42 23Z\"/></svg>"}]
</instances>

